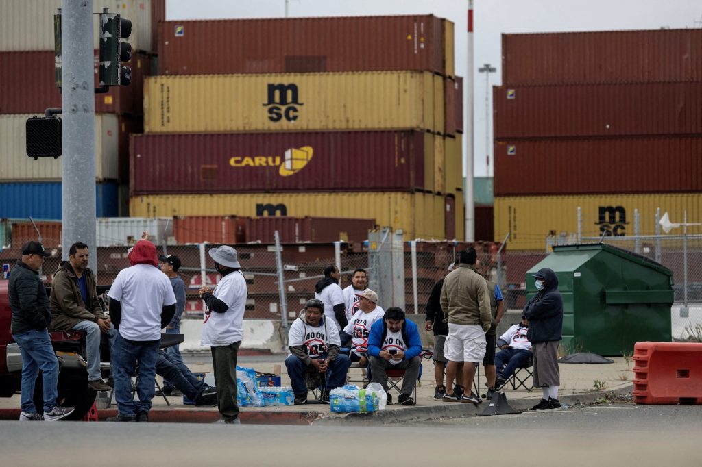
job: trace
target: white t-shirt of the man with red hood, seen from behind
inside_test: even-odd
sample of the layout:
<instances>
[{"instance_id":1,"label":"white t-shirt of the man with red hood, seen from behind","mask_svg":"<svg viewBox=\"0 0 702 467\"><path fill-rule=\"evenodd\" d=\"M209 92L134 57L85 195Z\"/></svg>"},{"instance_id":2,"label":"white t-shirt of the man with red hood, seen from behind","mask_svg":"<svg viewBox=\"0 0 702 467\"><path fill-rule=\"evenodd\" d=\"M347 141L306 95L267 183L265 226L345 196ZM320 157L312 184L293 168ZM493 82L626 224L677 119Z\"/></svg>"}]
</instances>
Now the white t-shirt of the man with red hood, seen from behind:
<instances>
[{"instance_id":1,"label":"white t-shirt of the man with red hood, seen from behind","mask_svg":"<svg viewBox=\"0 0 702 467\"><path fill-rule=\"evenodd\" d=\"M119 335L131 341L161 339L161 312L176 304L171 280L150 264L119 271L107 296L120 302Z\"/></svg>"}]
</instances>

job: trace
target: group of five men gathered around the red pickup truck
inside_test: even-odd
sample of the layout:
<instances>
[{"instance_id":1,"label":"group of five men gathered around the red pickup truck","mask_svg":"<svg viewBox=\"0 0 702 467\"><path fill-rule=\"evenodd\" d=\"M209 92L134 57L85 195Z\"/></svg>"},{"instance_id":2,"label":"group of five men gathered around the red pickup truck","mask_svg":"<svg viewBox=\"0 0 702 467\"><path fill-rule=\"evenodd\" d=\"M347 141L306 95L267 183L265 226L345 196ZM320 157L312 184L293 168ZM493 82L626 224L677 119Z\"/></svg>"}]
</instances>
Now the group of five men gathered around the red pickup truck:
<instances>
[{"instance_id":1,"label":"group of five men gathered around the red pickup truck","mask_svg":"<svg viewBox=\"0 0 702 467\"><path fill-rule=\"evenodd\" d=\"M222 279L214 289L200 290L207 305L201 343L211 347L215 370L216 387L211 387L183 363L177 345L161 348L161 330L180 334L185 283L178 274L180 259L174 255L157 256L155 245L147 237L145 232L128 250L131 266L119 271L107 293L109 315L98 299L95 274L88 268L88 245L71 245L68 260L60 264L53 276L50 297L38 273L50 254L38 242L22 246L22 258L8 285L11 330L22 353L20 421L53 421L74 412L73 407L62 407L57 401L58 359L48 331L78 330L85 334L88 388L114 388L118 414L112 421L148 421L155 376L159 374L164 378L162 393L180 393L199 407L217 406L220 423L239 423L235 367L243 338L246 281L240 273L237 251L226 245L209 251ZM107 382L100 365L103 338L107 339L111 354ZM33 400L39 370L43 414L37 411ZM138 384L133 388L132 377L137 372ZM134 400L133 393L138 400Z\"/></svg>"}]
</instances>

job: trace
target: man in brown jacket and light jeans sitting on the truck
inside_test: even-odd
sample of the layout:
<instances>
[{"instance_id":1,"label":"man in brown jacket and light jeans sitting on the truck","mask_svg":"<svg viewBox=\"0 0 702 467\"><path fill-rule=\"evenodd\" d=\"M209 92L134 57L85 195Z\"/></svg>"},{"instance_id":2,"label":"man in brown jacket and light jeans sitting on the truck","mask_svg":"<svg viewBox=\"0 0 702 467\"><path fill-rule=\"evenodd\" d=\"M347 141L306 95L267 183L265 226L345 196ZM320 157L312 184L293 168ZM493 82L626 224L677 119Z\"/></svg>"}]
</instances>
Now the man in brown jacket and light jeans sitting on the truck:
<instances>
[{"instance_id":1,"label":"man in brown jacket and light jeans sitting on the truck","mask_svg":"<svg viewBox=\"0 0 702 467\"><path fill-rule=\"evenodd\" d=\"M63 262L53 276L52 329L86 333L88 387L94 391L110 391L100 371L100 334L107 334L112 351L117 330L98 301L95 274L88 268L88 256L88 245L74 243L68 250L68 261Z\"/></svg>"}]
</instances>

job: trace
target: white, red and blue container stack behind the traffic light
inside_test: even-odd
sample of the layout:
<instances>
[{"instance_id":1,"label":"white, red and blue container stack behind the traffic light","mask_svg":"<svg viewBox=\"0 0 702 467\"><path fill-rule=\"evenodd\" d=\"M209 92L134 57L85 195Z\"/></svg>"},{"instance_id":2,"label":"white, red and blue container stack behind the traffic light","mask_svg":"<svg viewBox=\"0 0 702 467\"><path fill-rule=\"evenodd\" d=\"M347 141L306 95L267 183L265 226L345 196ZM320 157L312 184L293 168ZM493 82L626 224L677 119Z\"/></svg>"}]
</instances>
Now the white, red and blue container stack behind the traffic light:
<instances>
[{"instance_id":1,"label":"white, red and blue container stack behind the traffic light","mask_svg":"<svg viewBox=\"0 0 702 467\"><path fill-rule=\"evenodd\" d=\"M60 7L61 0L0 2L0 217L62 216L63 157L35 161L25 151L25 121L49 107L61 107L53 51L53 15ZM165 18L165 1L96 0L93 7L96 12L110 8L132 21L131 84L95 95L97 214L116 216L128 206L128 135L143 128L143 80L150 74L152 35L156 22ZM99 15L93 18L98 86Z\"/></svg>"}]
</instances>

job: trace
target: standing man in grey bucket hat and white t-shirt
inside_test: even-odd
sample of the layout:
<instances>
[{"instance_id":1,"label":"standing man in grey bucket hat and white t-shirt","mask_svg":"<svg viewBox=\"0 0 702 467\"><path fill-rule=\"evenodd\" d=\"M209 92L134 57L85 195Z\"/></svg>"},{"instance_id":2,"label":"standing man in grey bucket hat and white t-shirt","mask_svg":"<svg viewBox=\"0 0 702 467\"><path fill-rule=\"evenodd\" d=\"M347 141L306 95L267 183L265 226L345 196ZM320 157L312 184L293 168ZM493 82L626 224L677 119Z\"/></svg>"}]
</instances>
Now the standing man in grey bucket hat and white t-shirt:
<instances>
[{"instance_id":1,"label":"standing man in grey bucket hat and white t-shirt","mask_svg":"<svg viewBox=\"0 0 702 467\"><path fill-rule=\"evenodd\" d=\"M212 365L217 386L217 423L239 424L237 405L237 353L244 338L244 308L246 307L246 280L241 273L237 250L222 245L211 248L209 255L215 269L222 275L215 290L201 287L200 298L207 305L202 325L200 344L212 351Z\"/></svg>"}]
</instances>

